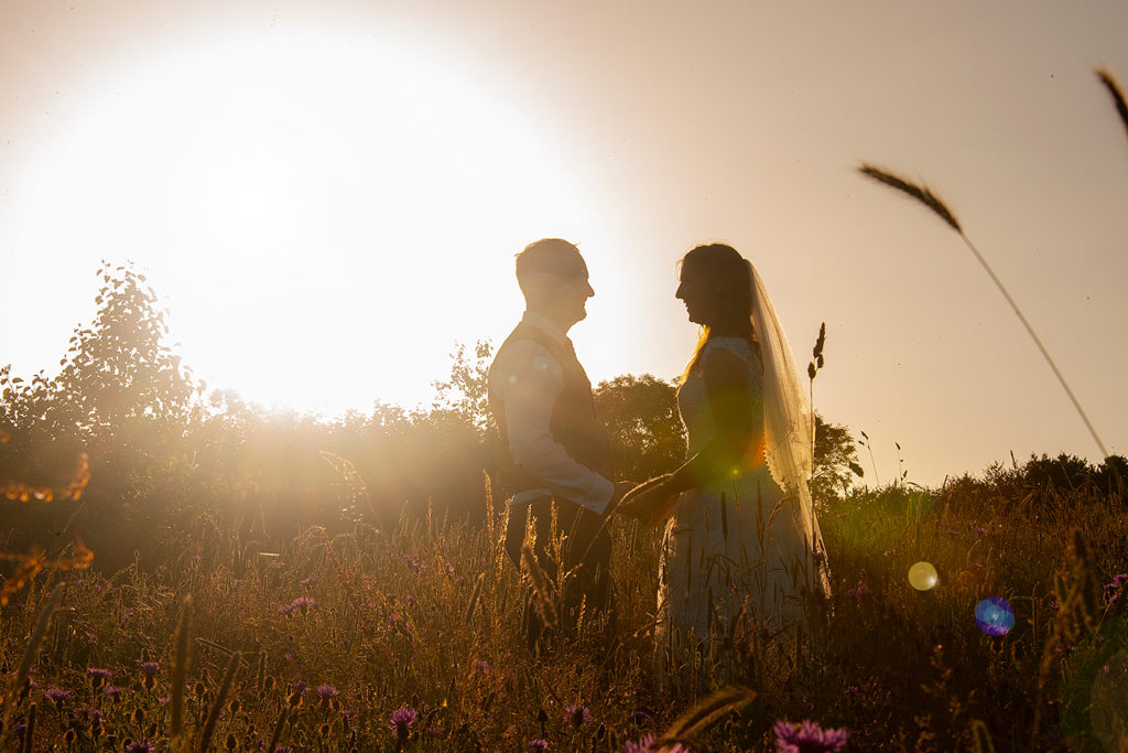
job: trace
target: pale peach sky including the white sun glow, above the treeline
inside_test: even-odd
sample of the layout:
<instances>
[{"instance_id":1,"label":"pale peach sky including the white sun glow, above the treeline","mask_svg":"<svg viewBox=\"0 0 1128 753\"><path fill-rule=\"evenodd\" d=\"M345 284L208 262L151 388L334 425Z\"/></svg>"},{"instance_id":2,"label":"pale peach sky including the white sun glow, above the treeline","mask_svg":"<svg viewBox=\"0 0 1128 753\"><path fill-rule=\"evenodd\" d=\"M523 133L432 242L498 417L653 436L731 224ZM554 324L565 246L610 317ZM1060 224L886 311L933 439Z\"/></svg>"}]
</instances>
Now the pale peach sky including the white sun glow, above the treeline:
<instances>
[{"instance_id":1,"label":"pale peach sky including the white sun glow, above the treeline","mask_svg":"<svg viewBox=\"0 0 1128 753\"><path fill-rule=\"evenodd\" d=\"M428 401L508 334L513 254L561 236L597 291L593 380L671 378L676 262L759 269L814 404L878 478L1096 444L926 182L1128 452L1128 3L218 2L0 6L0 364L53 375L133 261L210 387ZM862 453L867 481L874 481Z\"/></svg>"}]
</instances>

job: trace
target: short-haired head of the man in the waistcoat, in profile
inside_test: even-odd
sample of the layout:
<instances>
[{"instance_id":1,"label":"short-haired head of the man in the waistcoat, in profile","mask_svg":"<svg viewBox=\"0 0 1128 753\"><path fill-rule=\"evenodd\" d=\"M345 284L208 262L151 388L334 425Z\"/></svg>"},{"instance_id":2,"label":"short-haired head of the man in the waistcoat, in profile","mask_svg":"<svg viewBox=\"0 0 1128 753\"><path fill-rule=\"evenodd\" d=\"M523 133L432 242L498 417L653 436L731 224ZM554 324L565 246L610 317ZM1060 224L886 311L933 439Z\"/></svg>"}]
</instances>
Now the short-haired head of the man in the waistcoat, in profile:
<instances>
[{"instance_id":1,"label":"short-haired head of the man in the waistcoat, in profile","mask_svg":"<svg viewBox=\"0 0 1128 753\"><path fill-rule=\"evenodd\" d=\"M530 243L517 255L517 283L526 307L564 331L588 315L584 304L596 295L580 249L559 238Z\"/></svg>"}]
</instances>

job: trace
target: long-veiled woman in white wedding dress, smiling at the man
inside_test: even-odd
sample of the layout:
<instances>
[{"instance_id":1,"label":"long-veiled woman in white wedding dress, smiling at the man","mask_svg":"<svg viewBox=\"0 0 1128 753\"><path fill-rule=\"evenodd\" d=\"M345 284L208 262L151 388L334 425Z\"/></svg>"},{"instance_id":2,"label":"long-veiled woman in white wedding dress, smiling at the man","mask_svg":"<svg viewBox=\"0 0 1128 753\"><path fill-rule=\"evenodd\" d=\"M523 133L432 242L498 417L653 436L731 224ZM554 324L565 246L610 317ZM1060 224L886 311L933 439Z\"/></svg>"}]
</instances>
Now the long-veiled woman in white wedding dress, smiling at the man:
<instances>
[{"instance_id":1,"label":"long-veiled woman in white wedding dress, smiling at the man","mask_svg":"<svg viewBox=\"0 0 1128 753\"><path fill-rule=\"evenodd\" d=\"M681 260L677 297L702 326L678 388L688 459L629 491L618 513L664 523L659 676L714 653L743 611L761 634L805 623L829 596L811 504L812 414L791 347L755 268L731 246Z\"/></svg>"}]
</instances>

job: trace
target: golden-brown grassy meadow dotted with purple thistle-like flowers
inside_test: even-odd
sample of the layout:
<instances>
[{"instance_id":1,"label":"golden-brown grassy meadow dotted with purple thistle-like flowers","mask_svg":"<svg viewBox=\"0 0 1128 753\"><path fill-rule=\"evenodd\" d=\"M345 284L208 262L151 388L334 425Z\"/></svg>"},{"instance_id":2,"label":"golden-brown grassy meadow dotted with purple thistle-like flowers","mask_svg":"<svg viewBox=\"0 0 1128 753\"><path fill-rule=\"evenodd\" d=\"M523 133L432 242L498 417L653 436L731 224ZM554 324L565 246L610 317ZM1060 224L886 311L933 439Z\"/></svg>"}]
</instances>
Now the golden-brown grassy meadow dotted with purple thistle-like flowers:
<instances>
[{"instance_id":1,"label":"golden-brown grassy meadow dotted with purple thistle-like flowers","mask_svg":"<svg viewBox=\"0 0 1128 753\"><path fill-rule=\"evenodd\" d=\"M755 698L691 750L775 750L781 719L846 728L856 751L1125 750L1128 586L1102 592L1128 569L1123 496L1021 481L835 500L832 601L786 645L726 638ZM0 611L5 750L175 750L177 730L183 750L649 750L629 745L720 690L703 666L702 689L655 698L658 536L633 523L614 526L619 640L530 654L504 515L405 511L270 546L200 518L166 563L112 572L60 552ZM922 560L929 590L907 578ZM977 627L987 596L1013 606L1005 636Z\"/></svg>"}]
</instances>

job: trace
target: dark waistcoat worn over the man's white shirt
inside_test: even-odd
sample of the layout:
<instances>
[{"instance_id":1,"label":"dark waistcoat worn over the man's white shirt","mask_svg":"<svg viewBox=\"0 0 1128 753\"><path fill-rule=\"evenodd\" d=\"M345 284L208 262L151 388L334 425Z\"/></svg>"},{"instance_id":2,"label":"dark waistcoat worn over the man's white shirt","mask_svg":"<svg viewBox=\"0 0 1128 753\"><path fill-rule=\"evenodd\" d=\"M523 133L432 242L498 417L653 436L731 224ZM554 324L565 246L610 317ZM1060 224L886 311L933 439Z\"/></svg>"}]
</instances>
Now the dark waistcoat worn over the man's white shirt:
<instances>
[{"instance_id":1,"label":"dark waistcoat worn over the man's white shirt","mask_svg":"<svg viewBox=\"0 0 1128 753\"><path fill-rule=\"evenodd\" d=\"M497 357L505 350L509 343L517 340L532 340L544 347L548 353L561 365L564 376L564 389L556 396L553 403L549 430L553 439L558 441L569 455L576 462L587 465L599 473L605 479L613 479L611 474L611 448L607 439L607 429L596 417L596 402L591 395L591 382L587 373L580 366L575 352L571 348L561 345L544 331L529 324L517 325L517 329L505 339L501 348L497 349ZM497 421L501 430L502 449L505 461L514 474L517 490L536 489L544 487L544 482L531 474L525 472L513 462L509 452L509 431L505 427L505 406L501 395L493 389L490 391L490 410Z\"/></svg>"}]
</instances>

